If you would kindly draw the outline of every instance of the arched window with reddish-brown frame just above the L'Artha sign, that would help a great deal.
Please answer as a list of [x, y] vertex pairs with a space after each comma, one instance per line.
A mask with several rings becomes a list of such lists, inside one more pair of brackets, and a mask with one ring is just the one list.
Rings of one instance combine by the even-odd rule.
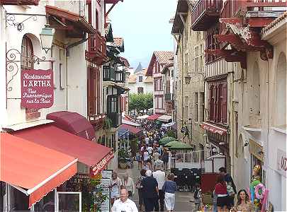
[[34, 63], [31, 62], [33, 56], [33, 45], [27, 35], [23, 36], [21, 45], [21, 69], [33, 69]]

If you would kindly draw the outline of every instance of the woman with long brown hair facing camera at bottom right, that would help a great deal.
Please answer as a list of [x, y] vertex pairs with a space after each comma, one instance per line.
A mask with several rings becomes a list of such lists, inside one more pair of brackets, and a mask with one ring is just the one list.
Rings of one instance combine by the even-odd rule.
[[249, 196], [244, 189], [241, 189], [237, 194], [237, 203], [231, 209], [231, 211], [254, 211], [254, 206], [252, 202], [249, 200]]

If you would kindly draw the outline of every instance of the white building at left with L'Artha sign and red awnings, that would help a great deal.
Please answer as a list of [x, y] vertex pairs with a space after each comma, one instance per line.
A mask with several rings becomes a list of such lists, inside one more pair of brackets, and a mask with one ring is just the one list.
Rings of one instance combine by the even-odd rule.
[[[45, 201], [50, 198], [54, 202], [57, 187], [63, 183], [66, 187], [65, 181], [75, 172], [96, 175], [113, 158], [111, 148], [96, 141], [103, 136], [103, 119], [106, 117], [102, 104], [102, 65], [106, 61], [105, 8], [117, 3], [103, 0], [1, 1], [0, 43], [4, 48], [0, 50], [0, 66], [5, 70], [0, 77], [1, 146], [10, 147], [13, 139], [21, 140], [21, 151], [38, 146], [35, 153], [22, 155], [17, 165], [21, 167], [21, 161], [26, 161], [23, 167], [33, 176], [42, 177], [38, 178], [40, 182], [50, 180], [48, 186], [40, 187], [42, 190], [38, 191], [39, 184], [30, 189], [25, 182], [13, 183], [6, 178], [8, 175], [1, 173], [1, 211], [44, 211]], [[51, 32], [51, 40], [41, 37], [47, 35], [47, 31]], [[50, 46], [44, 46], [45, 41], [50, 42]], [[36, 81], [40, 76], [46, 80]], [[26, 93], [23, 91], [25, 87], [30, 87]], [[27, 100], [33, 96], [35, 99]], [[38, 99], [41, 96], [43, 98]], [[38, 138], [33, 137], [37, 134]], [[40, 138], [43, 135], [45, 138]], [[43, 143], [37, 144], [40, 141]], [[9, 149], [15, 151], [17, 147]], [[50, 153], [42, 154], [45, 150]], [[3, 149], [1, 151], [6, 153]], [[55, 179], [50, 179], [50, 175], [43, 178], [41, 166], [34, 170], [33, 164], [28, 163], [29, 160], [33, 163], [46, 161], [48, 155], [53, 154], [78, 159], [73, 164], [62, 164], [64, 171], [57, 169], [57, 161], [43, 163], [44, 173], [52, 166], [55, 172], [51, 175], [55, 175]], [[16, 161], [17, 154], [13, 155]], [[42, 155], [46, 155], [46, 159]], [[61, 179], [57, 176], [59, 173], [62, 173]], [[27, 176], [16, 178], [25, 179]], [[31, 177], [29, 180], [34, 182], [35, 179]], [[38, 193], [34, 194], [34, 190]], [[43, 191], [45, 194], [42, 195]], [[45, 200], [42, 199], [47, 193]]]

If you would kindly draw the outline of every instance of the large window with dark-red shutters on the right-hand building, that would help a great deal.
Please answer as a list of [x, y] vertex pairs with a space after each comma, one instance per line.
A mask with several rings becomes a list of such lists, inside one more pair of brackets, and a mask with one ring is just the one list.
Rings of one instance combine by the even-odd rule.
[[227, 81], [210, 82], [209, 120], [218, 123], [227, 122]]

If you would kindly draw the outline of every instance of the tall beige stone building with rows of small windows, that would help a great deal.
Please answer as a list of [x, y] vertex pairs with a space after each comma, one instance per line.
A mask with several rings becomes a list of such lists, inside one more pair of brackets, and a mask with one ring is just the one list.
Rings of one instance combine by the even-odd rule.
[[[206, 117], [204, 100], [205, 34], [191, 29], [192, 8], [193, 4], [188, 1], [179, 1], [171, 33], [177, 42], [177, 134], [179, 140], [193, 145], [194, 151], [196, 151], [204, 150], [206, 146], [204, 130], [201, 128], [201, 123]], [[187, 133], [182, 129], [187, 129]]]

